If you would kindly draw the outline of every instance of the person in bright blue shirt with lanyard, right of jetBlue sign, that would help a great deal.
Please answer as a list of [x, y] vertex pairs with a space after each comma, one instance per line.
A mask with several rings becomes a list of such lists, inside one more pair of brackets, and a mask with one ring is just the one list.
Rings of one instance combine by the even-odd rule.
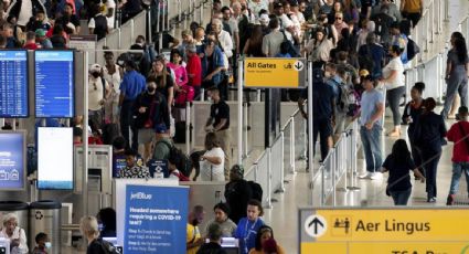
[[257, 200], [247, 202], [247, 216], [242, 218], [237, 223], [235, 237], [239, 241], [239, 254], [247, 254], [256, 245], [257, 231], [264, 221], [260, 216], [264, 214], [263, 205]]

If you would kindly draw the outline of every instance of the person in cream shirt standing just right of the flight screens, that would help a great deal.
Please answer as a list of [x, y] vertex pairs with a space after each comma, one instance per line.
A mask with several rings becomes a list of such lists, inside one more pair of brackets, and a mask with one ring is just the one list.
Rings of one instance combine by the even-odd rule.
[[88, 116], [98, 129], [103, 124], [103, 106], [109, 95], [110, 87], [102, 76], [100, 65], [93, 64], [88, 75]]

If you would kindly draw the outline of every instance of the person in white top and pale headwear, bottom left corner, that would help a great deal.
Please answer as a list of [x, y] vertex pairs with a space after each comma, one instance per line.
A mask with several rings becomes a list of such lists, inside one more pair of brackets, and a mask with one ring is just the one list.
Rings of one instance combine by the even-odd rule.
[[26, 254], [28, 243], [26, 233], [18, 226], [18, 216], [14, 213], [8, 213], [3, 216], [3, 229], [0, 237], [10, 240], [11, 254]]

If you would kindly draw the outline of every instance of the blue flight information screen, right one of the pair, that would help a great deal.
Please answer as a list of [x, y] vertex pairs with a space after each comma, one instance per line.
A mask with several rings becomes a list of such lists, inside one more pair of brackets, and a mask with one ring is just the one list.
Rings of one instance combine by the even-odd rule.
[[35, 116], [73, 117], [73, 51], [35, 51]]

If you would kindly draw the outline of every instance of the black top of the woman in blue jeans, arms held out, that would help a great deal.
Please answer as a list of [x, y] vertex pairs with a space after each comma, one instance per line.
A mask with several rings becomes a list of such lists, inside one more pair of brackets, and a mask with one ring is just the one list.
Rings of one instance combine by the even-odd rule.
[[411, 176], [408, 173], [408, 171], [415, 169], [412, 158], [408, 158], [405, 162], [398, 162], [393, 156], [388, 156], [384, 160], [383, 168], [390, 171], [390, 178], [387, 179], [390, 191], [405, 191], [412, 188]]

